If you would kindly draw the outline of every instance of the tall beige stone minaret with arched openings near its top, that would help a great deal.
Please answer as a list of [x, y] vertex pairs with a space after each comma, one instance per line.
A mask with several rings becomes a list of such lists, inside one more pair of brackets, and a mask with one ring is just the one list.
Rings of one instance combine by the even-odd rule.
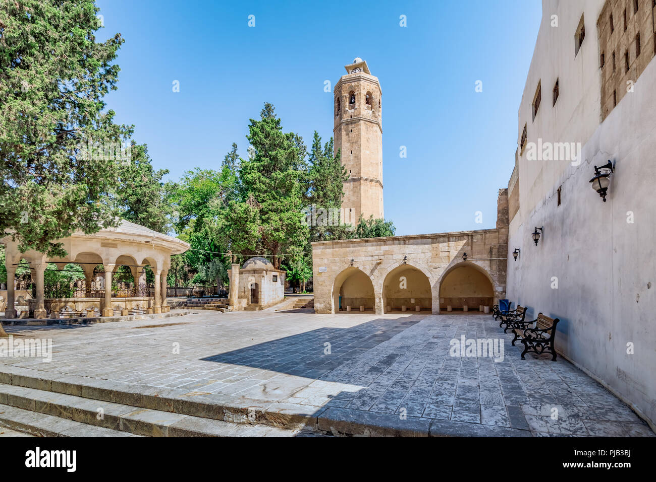
[[382, 211], [382, 103], [378, 77], [367, 62], [356, 58], [345, 65], [335, 85], [335, 153], [342, 151], [348, 180], [344, 183], [342, 209], [346, 223], [383, 217]]

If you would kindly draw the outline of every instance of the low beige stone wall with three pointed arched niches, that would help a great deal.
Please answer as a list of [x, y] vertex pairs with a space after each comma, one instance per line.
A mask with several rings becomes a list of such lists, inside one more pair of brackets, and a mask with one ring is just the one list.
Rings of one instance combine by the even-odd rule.
[[[440, 312], [440, 283], [445, 274], [459, 267], [472, 267], [483, 273], [493, 286], [493, 302], [505, 297], [506, 253], [508, 246], [508, 190], [499, 191], [497, 229], [479, 231], [447, 232], [440, 234], [418, 234], [358, 240], [324, 241], [312, 243], [314, 308], [318, 313], [338, 311], [340, 288], [348, 283], [356, 271], [369, 278], [373, 288], [373, 303], [376, 313], [386, 312], [388, 305], [403, 298], [398, 293], [386, 293], [384, 286], [400, 284], [401, 270], [413, 268], [423, 274], [430, 286], [430, 306], [434, 314]], [[467, 261], [462, 255], [467, 254]], [[365, 280], [361, 274], [359, 275]], [[406, 276], [406, 282], [413, 280]], [[369, 299], [369, 286], [359, 282], [361, 296]], [[409, 292], [413, 286], [408, 286]], [[428, 296], [417, 287], [415, 303], [426, 308]], [[484, 296], [484, 295], [483, 295]], [[388, 298], [388, 299], [387, 299]], [[419, 303], [419, 299], [426, 298]], [[393, 300], [397, 301], [393, 301]], [[388, 303], [392, 301], [392, 303]], [[404, 303], [407, 301], [404, 301]], [[359, 309], [361, 301], [354, 299], [353, 306]], [[365, 305], [367, 303], [365, 302]], [[366, 306], [365, 306], [366, 308]], [[478, 308], [478, 305], [476, 306]]]

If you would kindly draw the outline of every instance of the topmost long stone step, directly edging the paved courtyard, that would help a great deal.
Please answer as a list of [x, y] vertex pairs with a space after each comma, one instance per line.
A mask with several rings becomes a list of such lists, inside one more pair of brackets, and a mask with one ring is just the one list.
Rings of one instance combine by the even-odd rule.
[[[68, 404], [68, 406], [73, 405], [74, 408], [73, 412], [69, 411], [68, 413], [76, 413], [78, 414], [77, 417], [96, 417], [98, 415], [97, 409], [104, 407], [105, 420], [107, 420], [108, 414], [114, 415], [115, 417], [118, 416], [127, 420], [123, 422], [124, 426], [134, 426], [136, 424], [137, 428], [134, 430], [140, 434], [148, 433], [147, 430], [139, 432], [138, 421], [140, 420], [142, 420], [143, 424], [150, 424], [150, 426], [146, 425], [148, 430], [157, 429], [161, 431], [166, 428], [167, 434], [170, 435], [171, 433], [175, 434], [176, 430], [184, 430], [187, 434], [191, 434], [194, 431], [200, 432], [197, 429], [197, 424], [201, 422], [196, 419], [201, 418], [203, 424], [208, 424], [208, 421], [234, 424], [237, 426], [234, 430], [237, 430], [239, 435], [246, 435], [245, 432], [239, 430], [241, 428], [260, 427], [260, 430], [262, 430], [262, 427], [264, 427], [285, 430], [285, 432], [276, 432], [285, 436], [290, 436], [292, 435], [291, 432], [295, 432], [295, 436], [299, 437], [323, 435], [449, 437], [462, 436], [463, 434], [477, 437], [531, 436], [529, 430], [523, 429], [480, 426], [479, 424], [466, 422], [410, 416], [407, 417], [407, 420], [401, 420], [395, 414], [373, 413], [358, 409], [325, 407], [321, 405], [300, 405], [287, 401], [264, 401], [242, 396], [211, 394], [203, 392], [202, 388], [199, 388], [199, 390], [163, 388], [144, 384], [93, 379], [78, 375], [64, 375], [63, 373], [16, 367], [13, 365], [0, 365], [0, 383], [6, 385], [3, 387], [3, 390], [7, 395], [6, 400], [0, 396], [0, 403], [7, 402], [7, 405], [29, 404], [31, 403], [31, 399], [34, 402], [34, 410], [37, 410], [37, 399], [39, 397], [36, 397], [35, 394], [39, 394], [39, 392], [12, 392], [10, 398], [9, 388], [16, 387], [33, 388], [40, 392], [45, 392], [45, 394], [39, 394], [39, 396], [43, 397], [56, 397], [58, 394], [70, 395], [75, 397], [75, 403]], [[48, 398], [45, 401], [39, 399], [40, 408], [58, 407], [59, 405], [67, 406], [65, 402], [62, 402], [62, 399], [53, 398], [51, 400]], [[128, 405], [129, 407], [127, 409], [131, 409], [132, 411], [116, 415], [114, 409], [106, 408], [108, 406], [113, 407], [113, 405], [122, 406], [116, 409], [117, 412], [123, 411], [125, 405]], [[24, 406], [31, 408], [31, 405]], [[56, 408], [56, 410], [59, 409]], [[34, 414], [37, 412], [31, 413]], [[65, 419], [61, 411], [54, 413], [54, 417]], [[128, 417], [128, 415], [131, 416]], [[48, 414], [47, 416], [52, 417], [53, 415]], [[180, 422], [178, 418], [175, 418], [176, 416], [190, 416], [194, 418], [184, 418], [185, 421]], [[161, 420], [159, 420], [160, 418]], [[2, 418], [0, 418], [0, 424], [2, 423], [1, 420]], [[219, 425], [220, 428], [204, 428], [204, 432], [207, 433], [215, 430], [215, 433], [235, 433], [219, 432], [219, 430], [224, 430], [225, 428], [224, 425]], [[209, 427], [210, 425], [207, 426]], [[18, 430], [14, 427], [9, 426], [13, 430]], [[45, 425], [44, 427], [47, 428], [48, 426]], [[201, 426], [201, 428], [203, 427]], [[110, 429], [108, 428], [108, 430]], [[249, 432], [249, 434], [251, 433], [255, 434], [258, 432]], [[272, 432], [267, 432], [266, 430], [264, 433], [267, 436], [272, 434]]]

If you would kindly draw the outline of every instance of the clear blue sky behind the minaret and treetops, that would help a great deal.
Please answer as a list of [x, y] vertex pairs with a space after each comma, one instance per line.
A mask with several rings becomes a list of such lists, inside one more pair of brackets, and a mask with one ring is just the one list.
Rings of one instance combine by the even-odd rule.
[[334, 85], [361, 57], [382, 86], [384, 212], [396, 234], [495, 226], [541, 1], [97, 3], [98, 39], [126, 40], [106, 100], [167, 179], [217, 169], [233, 141], [246, 157], [249, 119], [264, 102], [286, 132], [309, 144], [317, 130], [326, 141], [333, 94], [324, 81]]

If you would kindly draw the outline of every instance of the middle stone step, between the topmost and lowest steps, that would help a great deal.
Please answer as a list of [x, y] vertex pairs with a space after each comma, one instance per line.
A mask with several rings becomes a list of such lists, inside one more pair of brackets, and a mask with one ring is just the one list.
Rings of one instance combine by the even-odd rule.
[[[291, 437], [298, 432], [266, 425], [234, 424], [7, 384], [0, 384], [0, 402], [10, 409], [28, 411], [32, 416], [51, 416], [86, 426], [88, 428], [85, 429], [64, 424], [67, 428], [75, 428], [80, 434], [87, 430], [89, 436], [93, 436], [98, 429], [100, 432], [96, 436], [109, 437], [130, 434], [146, 437]], [[9, 428], [17, 428], [21, 420], [27, 420], [24, 413], [16, 417], [11, 411], [8, 412], [9, 416], [0, 414], [0, 421], [9, 423]], [[38, 415], [33, 418], [39, 418]], [[16, 419], [13, 426], [12, 419]], [[45, 423], [40, 426], [52, 432], [48, 436], [60, 436], [54, 425], [57, 420], [43, 421]], [[108, 432], [102, 435], [102, 430]]]

